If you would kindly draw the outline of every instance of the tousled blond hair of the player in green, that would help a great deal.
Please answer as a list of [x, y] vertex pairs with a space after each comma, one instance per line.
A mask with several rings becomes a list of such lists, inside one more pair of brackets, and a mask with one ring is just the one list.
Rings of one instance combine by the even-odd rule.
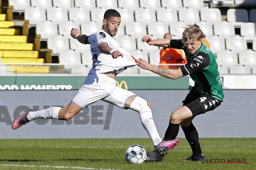
[[194, 25], [187, 25], [185, 27], [185, 30], [182, 33], [181, 41], [185, 47], [187, 44], [190, 44], [193, 41], [199, 41], [200, 38], [202, 38], [202, 36], [203, 36], [203, 33], [199, 27]]

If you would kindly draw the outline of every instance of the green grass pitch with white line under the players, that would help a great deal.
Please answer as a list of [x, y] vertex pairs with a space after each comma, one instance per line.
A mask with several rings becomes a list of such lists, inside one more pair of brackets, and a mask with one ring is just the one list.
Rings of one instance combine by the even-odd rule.
[[168, 151], [162, 162], [128, 164], [125, 151], [134, 144], [143, 146], [147, 152], [154, 149], [150, 139], [1, 139], [0, 170], [256, 169], [256, 138], [200, 139], [208, 160], [239, 162], [240, 159], [250, 164], [181, 162], [192, 154], [186, 139], [180, 139], [179, 145]]

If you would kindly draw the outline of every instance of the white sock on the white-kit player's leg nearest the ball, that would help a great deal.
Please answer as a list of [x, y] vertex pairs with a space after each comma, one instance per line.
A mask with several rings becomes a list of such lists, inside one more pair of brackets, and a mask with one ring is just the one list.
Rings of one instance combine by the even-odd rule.
[[140, 113], [140, 120], [143, 128], [147, 131], [147, 134], [150, 136], [151, 140], [155, 145], [158, 145], [161, 141], [162, 138], [160, 138], [154, 120], [152, 116], [152, 112], [143, 112]]

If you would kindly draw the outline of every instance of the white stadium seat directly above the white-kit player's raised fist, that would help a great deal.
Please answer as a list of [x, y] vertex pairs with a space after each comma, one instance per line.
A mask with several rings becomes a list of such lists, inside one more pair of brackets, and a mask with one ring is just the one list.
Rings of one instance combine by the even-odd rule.
[[69, 10], [69, 20], [79, 23], [90, 21], [90, 12], [86, 8], [73, 7]]

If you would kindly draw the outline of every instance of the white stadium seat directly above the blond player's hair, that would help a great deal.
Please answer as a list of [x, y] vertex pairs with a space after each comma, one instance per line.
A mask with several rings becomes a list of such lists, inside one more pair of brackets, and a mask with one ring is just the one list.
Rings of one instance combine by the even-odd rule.
[[193, 8], [182, 8], [179, 12], [179, 21], [182, 22], [198, 22], [200, 21], [199, 12]]

